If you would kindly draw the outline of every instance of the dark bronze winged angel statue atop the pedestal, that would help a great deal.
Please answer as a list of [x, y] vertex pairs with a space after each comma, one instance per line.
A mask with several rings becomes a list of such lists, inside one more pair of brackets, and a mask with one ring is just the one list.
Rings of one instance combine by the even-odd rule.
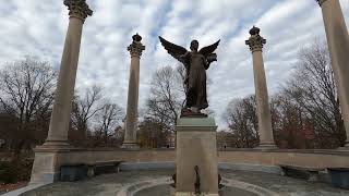
[[[201, 113], [202, 109], [208, 107], [206, 94], [206, 70], [210, 63], [217, 61], [217, 49], [219, 41], [206, 46], [198, 50], [198, 41], [192, 40], [190, 44], [191, 51], [174, 45], [159, 36], [161, 45], [174, 59], [183, 63], [186, 70], [184, 79], [186, 103], [181, 117], [207, 117]], [[198, 50], [198, 51], [197, 51]]]

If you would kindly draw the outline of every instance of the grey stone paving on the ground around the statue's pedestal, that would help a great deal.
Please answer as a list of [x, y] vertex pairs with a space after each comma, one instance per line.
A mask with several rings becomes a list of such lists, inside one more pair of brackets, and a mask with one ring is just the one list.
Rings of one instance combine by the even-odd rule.
[[[98, 175], [85, 181], [65, 183], [59, 182], [22, 194], [22, 196], [116, 196], [125, 185], [140, 181], [156, 180], [170, 176], [173, 171], [130, 171], [115, 174]], [[233, 179], [269, 189], [278, 195], [289, 196], [345, 196], [349, 191], [333, 188], [325, 183], [312, 183], [276, 174], [249, 171], [221, 171], [222, 177]], [[146, 188], [136, 196], [165, 196], [169, 193], [168, 185]], [[226, 187], [224, 196], [254, 196], [244, 189]]]

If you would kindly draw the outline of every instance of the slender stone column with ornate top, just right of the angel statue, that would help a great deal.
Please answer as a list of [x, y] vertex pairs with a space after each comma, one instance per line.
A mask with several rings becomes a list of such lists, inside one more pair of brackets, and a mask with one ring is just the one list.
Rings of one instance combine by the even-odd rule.
[[257, 27], [253, 26], [250, 34], [251, 37], [245, 41], [245, 44], [250, 46], [253, 56], [254, 86], [257, 105], [258, 133], [261, 139], [258, 148], [275, 148], [268, 90], [262, 56], [262, 48], [263, 45], [266, 44], [266, 40], [260, 36], [260, 28]]

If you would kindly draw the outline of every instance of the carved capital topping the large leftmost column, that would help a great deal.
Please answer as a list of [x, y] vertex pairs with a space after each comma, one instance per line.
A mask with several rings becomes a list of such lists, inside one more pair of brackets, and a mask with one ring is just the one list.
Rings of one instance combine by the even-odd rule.
[[87, 16], [93, 14], [86, 0], [64, 0], [64, 4], [68, 7], [69, 15], [71, 17], [77, 17], [85, 21]]

